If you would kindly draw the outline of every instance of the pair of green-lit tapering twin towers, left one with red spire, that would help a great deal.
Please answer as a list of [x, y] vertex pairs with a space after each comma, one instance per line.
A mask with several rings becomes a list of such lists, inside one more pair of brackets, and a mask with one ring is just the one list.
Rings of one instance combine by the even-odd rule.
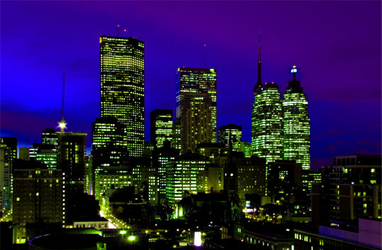
[[253, 94], [252, 153], [266, 158], [266, 163], [276, 160], [293, 160], [310, 170], [310, 119], [307, 99], [297, 68], [293, 66], [291, 80], [281, 99], [278, 85], [261, 81], [261, 43], [258, 43], [258, 79]]

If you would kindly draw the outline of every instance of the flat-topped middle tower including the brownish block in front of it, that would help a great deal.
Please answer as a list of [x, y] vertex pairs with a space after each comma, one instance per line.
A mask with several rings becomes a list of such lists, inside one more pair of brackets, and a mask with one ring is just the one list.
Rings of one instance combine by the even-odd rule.
[[180, 119], [182, 153], [195, 152], [198, 143], [216, 143], [216, 70], [180, 67], [176, 85], [176, 118]]

